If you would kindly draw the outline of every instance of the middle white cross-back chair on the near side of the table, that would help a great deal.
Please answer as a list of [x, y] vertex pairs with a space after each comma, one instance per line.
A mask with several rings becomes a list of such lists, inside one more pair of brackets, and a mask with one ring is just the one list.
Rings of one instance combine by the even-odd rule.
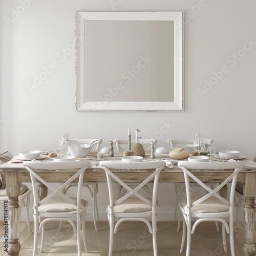
[[[112, 162], [112, 161], [101, 161], [100, 166], [105, 170], [106, 178], [109, 187], [109, 204], [107, 205], [108, 219], [110, 223], [110, 245], [109, 245], [109, 256], [112, 255], [113, 248], [113, 237], [114, 233], [117, 232], [118, 226], [123, 221], [143, 221], [146, 223], [150, 233], [153, 236], [153, 248], [154, 255], [157, 255], [157, 241], [156, 241], [156, 230], [157, 230], [157, 215], [159, 212], [159, 204], [157, 202], [157, 186], [160, 171], [165, 166], [164, 161], [147, 161], [147, 162]], [[115, 175], [113, 170], [129, 169], [131, 172], [135, 169], [148, 169], [154, 170], [154, 172], [146, 172], [147, 177], [143, 182], [139, 183], [135, 188], [131, 188], [125, 182]], [[134, 171], [136, 172], [136, 171]], [[134, 173], [136, 175], [136, 173]], [[139, 174], [137, 174], [139, 175]], [[146, 176], [146, 175], [145, 175]], [[144, 176], [143, 176], [144, 177]], [[118, 182], [123, 186], [127, 193], [121, 198], [115, 198], [113, 194], [113, 183]], [[153, 182], [153, 195], [151, 198], [145, 198], [141, 194], [141, 188], [148, 182]], [[114, 225], [114, 218], [117, 217], [118, 221]], [[152, 219], [152, 225], [146, 219], [150, 217]]]

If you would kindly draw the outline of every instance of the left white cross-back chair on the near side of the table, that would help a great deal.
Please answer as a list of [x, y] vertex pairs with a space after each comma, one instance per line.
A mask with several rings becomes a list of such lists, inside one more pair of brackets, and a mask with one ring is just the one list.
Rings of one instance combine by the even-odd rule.
[[[34, 215], [34, 247], [33, 247], [33, 256], [36, 255], [37, 249], [37, 238], [38, 232], [41, 233], [41, 247], [40, 252], [44, 246], [45, 238], [45, 223], [48, 221], [68, 221], [77, 235], [77, 250], [78, 255], [81, 255], [81, 246], [80, 246], [80, 229], [82, 225], [82, 237], [84, 248], [87, 250], [86, 246], [86, 236], [85, 236], [85, 218], [88, 202], [81, 199], [81, 188], [84, 170], [86, 170], [90, 163], [88, 161], [74, 161], [74, 162], [34, 162], [34, 161], [25, 161], [25, 168], [29, 171], [33, 195], [34, 195], [34, 206], [33, 206], [33, 215]], [[74, 170], [74, 175], [72, 175], [65, 183], [60, 185], [58, 188], [55, 188], [51, 183], [46, 182], [42, 179], [35, 170], [49, 170], [49, 175], [51, 175], [51, 170]], [[69, 185], [75, 179], [78, 180], [77, 187], [77, 197], [70, 198], [67, 195], [63, 194], [63, 189]], [[44, 199], [39, 200], [38, 197], [38, 187], [37, 181], [43, 183], [47, 186], [48, 191], [51, 193]], [[76, 221], [76, 226], [74, 221]], [[40, 225], [39, 225], [40, 223]]]

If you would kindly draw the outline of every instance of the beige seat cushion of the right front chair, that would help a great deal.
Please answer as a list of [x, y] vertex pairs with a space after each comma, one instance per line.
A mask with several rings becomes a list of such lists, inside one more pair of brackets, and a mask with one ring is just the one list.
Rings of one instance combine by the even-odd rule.
[[[199, 198], [191, 198], [191, 203], [197, 201]], [[187, 200], [183, 199], [181, 201], [181, 204], [183, 207], [186, 206]], [[191, 208], [191, 212], [201, 212], [201, 213], [206, 213], [206, 212], [223, 212], [223, 211], [228, 211], [229, 207], [224, 204], [221, 200], [218, 198], [208, 198], [202, 203], [193, 206]]]

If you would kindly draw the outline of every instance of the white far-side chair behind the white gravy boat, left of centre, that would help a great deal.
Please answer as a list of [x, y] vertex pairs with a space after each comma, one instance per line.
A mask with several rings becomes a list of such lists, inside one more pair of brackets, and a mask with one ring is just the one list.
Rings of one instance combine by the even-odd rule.
[[[71, 139], [77, 141], [79, 144], [90, 144], [96, 141], [96, 139]], [[99, 151], [100, 144], [102, 143], [102, 139], [96, 141], [93, 143], [93, 145], [96, 145], [95, 151]], [[70, 184], [65, 188], [65, 194], [68, 192], [68, 190], [72, 187], [77, 186], [77, 184]], [[89, 193], [92, 197], [92, 210], [93, 210], [93, 222], [94, 222], [94, 228], [95, 231], [97, 231], [97, 221], [99, 221], [99, 211], [98, 211], [98, 204], [97, 204], [97, 193], [99, 189], [99, 183], [98, 182], [83, 182], [83, 187], [87, 188], [89, 190]], [[61, 225], [61, 224], [60, 224]]]

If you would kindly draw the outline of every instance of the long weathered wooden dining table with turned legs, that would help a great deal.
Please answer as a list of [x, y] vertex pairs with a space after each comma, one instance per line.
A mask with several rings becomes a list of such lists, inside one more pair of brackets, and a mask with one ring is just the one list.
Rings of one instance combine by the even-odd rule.
[[[163, 160], [167, 157], [156, 157], [154, 160]], [[150, 158], [146, 158], [150, 160]], [[106, 182], [105, 171], [99, 166], [99, 161], [96, 157], [86, 157], [77, 160], [88, 160], [91, 165], [84, 174], [84, 182]], [[120, 161], [120, 157], [107, 157], [105, 160]], [[44, 160], [42, 160], [44, 161]], [[51, 161], [47, 159], [47, 161]], [[31, 182], [30, 174], [23, 166], [22, 161], [9, 161], [0, 167], [1, 173], [6, 175], [6, 191], [8, 195], [8, 255], [18, 255], [20, 244], [18, 241], [18, 216], [19, 205], [18, 196], [20, 184]], [[146, 173], [152, 170], [121, 170], [116, 171], [116, 175], [126, 182], [141, 182], [144, 180]], [[203, 182], [222, 182], [225, 180], [232, 170], [194, 170], [194, 175]], [[72, 174], [69, 170], [40, 170], [37, 174], [47, 182], [65, 182]], [[160, 173], [159, 182], [176, 183], [184, 182], [182, 170], [174, 165], [173, 168], [166, 166]], [[244, 167], [238, 175], [238, 183], [244, 185], [244, 222], [245, 222], [245, 243], [243, 251], [245, 255], [256, 255], [256, 245], [254, 240], [254, 221], [255, 221], [255, 205], [254, 197], [256, 196], [256, 167]], [[44, 185], [41, 186], [42, 194], [40, 197], [45, 197], [47, 190]], [[227, 187], [222, 193], [227, 193]]]

